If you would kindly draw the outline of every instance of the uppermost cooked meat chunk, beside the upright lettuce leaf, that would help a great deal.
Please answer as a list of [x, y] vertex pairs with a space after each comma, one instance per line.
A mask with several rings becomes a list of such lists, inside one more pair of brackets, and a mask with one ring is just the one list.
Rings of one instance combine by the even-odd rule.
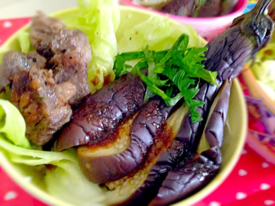
[[90, 92], [87, 76], [92, 52], [87, 35], [38, 12], [32, 19], [30, 37], [37, 52], [48, 60], [56, 84], [69, 81], [76, 86], [76, 95], [69, 103], [78, 104]]

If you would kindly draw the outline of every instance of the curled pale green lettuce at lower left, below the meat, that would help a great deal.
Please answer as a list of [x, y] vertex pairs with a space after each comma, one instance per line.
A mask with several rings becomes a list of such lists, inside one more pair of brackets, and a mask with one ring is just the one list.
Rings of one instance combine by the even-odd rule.
[[84, 177], [75, 149], [53, 152], [32, 147], [25, 137], [23, 117], [7, 100], [0, 99], [0, 117], [0, 149], [5, 151], [11, 162], [31, 166], [55, 165], [56, 168], [47, 170], [45, 176], [50, 195], [74, 205], [103, 205], [103, 190]]

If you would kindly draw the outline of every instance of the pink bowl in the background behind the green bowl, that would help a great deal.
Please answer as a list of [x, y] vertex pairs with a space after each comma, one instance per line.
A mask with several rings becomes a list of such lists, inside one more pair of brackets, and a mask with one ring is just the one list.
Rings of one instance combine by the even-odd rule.
[[243, 14], [245, 7], [247, 6], [248, 0], [239, 0], [235, 9], [232, 13], [220, 17], [212, 18], [192, 18], [192, 17], [180, 17], [176, 15], [168, 15], [159, 11], [155, 11], [150, 8], [143, 7], [141, 5], [133, 3], [131, 0], [120, 0], [123, 5], [130, 5], [133, 7], [138, 7], [141, 9], [146, 9], [149, 11], [154, 11], [161, 15], [168, 15], [171, 19], [178, 21], [185, 25], [193, 26], [197, 33], [204, 37], [207, 41], [215, 37], [216, 35], [222, 33], [229, 25], [231, 25], [233, 19]]

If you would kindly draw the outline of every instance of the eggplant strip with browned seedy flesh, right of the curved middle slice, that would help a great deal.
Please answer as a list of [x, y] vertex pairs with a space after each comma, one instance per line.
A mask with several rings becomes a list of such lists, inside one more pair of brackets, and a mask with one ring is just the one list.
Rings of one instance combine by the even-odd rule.
[[140, 169], [120, 180], [105, 184], [111, 190], [108, 194], [111, 204], [146, 205], [154, 193], [156, 195], [162, 172], [171, 170], [176, 158], [184, 153], [184, 145], [175, 141], [175, 138], [187, 110], [182, 106], [166, 120], [162, 131], [154, 138], [146, 162]]

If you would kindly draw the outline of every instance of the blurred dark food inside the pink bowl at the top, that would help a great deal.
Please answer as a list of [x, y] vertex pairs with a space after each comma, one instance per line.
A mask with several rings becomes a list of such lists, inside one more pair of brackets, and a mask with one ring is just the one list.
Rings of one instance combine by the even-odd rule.
[[135, 4], [184, 17], [217, 17], [234, 11], [237, 0], [131, 0]]

